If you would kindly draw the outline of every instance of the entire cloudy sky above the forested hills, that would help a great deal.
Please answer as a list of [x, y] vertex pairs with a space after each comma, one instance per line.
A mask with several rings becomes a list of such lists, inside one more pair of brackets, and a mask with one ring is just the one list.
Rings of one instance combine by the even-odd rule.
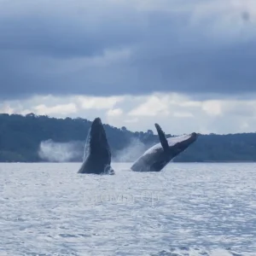
[[[0, 0], [0, 113], [256, 131], [255, 0]], [[154, 133], [156, 133], [154, 131]]]

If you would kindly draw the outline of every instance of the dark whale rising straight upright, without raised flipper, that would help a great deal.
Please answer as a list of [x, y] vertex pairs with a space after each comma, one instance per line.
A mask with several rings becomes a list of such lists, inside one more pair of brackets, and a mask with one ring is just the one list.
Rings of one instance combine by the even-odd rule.
[[114, 174], [111, 167], [111, 151], [100, 118], [94, 119], [90, 126], [79, 173]]

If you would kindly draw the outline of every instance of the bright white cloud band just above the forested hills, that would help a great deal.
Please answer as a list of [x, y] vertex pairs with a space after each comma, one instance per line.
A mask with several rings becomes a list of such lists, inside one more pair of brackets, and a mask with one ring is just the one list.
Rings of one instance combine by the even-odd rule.
[[[125, 126], [131, 131], [150, 129], [155, 134], [154, 123], [159, 123], [166, 133], [173, 135], [193, 131], [220, 134], [254, 132], [256, 127], [255, 99], [195, 100], [193, 97], [176, 93], [85, 98], [90, 106], [85, 108], [85, 111], [81, 96], [35, 96], [1, 102], [0, 113], [35, 113], [57, 118], [70, 116], [90, 120], [99, 116], [105, 124], [119, 128]], [[100, 108], [97, 102], [101, 102]]]

